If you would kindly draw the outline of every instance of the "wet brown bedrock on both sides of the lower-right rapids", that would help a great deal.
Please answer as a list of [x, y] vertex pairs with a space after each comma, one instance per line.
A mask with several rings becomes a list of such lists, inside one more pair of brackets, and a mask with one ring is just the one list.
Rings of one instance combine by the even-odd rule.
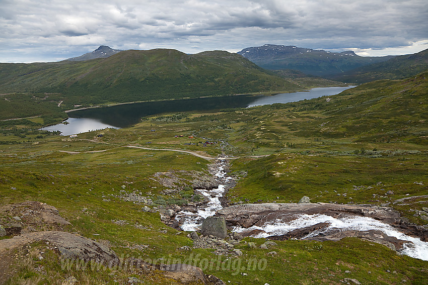
[[[221, 209], [217, 212], [219, 217], [224, 217], [227, 226], [249, 229], [253, 226], [261, 227], [277, 221], [290, 223], [296, 219], [296, 215], [322, 214], [336, 219], [348, 217], [368, 217], [381, 221], [395, 228], [395, 230], [408, 236], [419, 238], [421, 241], [428, 240], [428, 229], [408, 222], [406, 218], [392, 208], [371, 205], [337, 205], [337, 204], [242, 204]], [[329, 222], [317, 223], [315, 225], [291, 230], [283, 235], [272, 235], [267, 237], [271, 240], [312, 239], [312, 240], [339, 240], [344, 237], [360, 237], [381, 244], [385, 244], [393, 250], [403, 248], [403, 243], [408, 242], [387, 236], [379, 230], [341, 230], [329, 228]], [[265, 233], [260, 229], [249, 229], [242, 231], [244, 236]]]

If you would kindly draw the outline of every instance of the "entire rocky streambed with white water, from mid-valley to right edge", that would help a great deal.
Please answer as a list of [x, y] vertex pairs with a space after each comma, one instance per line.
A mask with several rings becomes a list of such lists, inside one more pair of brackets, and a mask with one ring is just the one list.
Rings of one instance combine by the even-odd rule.
[[207, 203], [182, 207], [174, 219], [184, 231], [200, 231], [211, 216], [222, 217], [228, 230], [269, 240], [333, 240], [359, 237], [401, 254], [428, 260], [428, 227], [410, 223], [389, 207], [327, 203], [264, 203], [227, 207], [224, 194], [236, 179], [227, 174], [227, 160], [210, 165], [211, 186], [194, 187]]

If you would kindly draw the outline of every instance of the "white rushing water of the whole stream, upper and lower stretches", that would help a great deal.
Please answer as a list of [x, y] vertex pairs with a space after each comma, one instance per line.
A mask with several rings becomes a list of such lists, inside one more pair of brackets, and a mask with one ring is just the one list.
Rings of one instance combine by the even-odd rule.
[[[226, 189], [230, 186], [232, 177], [227, 175], [225, 169], [227, 169], [226, 160], [218, 160], [216, 162], [216, 169], [211, 172], [216, 177], [219, 186], [212, 190], [197, 189], [196, 192], [207, 197], [209, 202], [206, 205], [200, 206], [196, 209], [196, 212], [181, 211], [177, 213], [176, 220], [181, 225], [180, 228], [184, 231], [197, 231], [200, 229], [203, 219], [216, 214], [216, 211], [223, 208], [221, 198], [223, 197]], [[390, 237], [395, 237], [399, 240], [408, 241], [404, 243], [403, 249], [400, 253], [419, 258], [422, 260], [428, 260], [428, 243], [423, 242], [418, 238], [407, 236], [394, 227], [385, 224], [381, 221], [375, 220], [368, 217], [360, 216], [348, 216], [342, 218], [334, 218], [327, 215], [315, 214], [298, 214], [295, 219], [289, 222], [284, 222], [277, 219], [273, 222], [266, 222], [262, 226], [252, 226], [250, 228], [234, 227], [232, 230], [235, 232], [243, 233], [251, 230], [261, 230], [258, 234], [251, 235], [255, 238], [265, 238], [272, 235], [283, 235], [290, 231], [313, 226], [318, 223], [328, 223], [329, 226], [320, 230], [316, 230], [307, 236], [303, 237], [310, 238], [319, 235], [327, 235], [329, 232], [346, 230], [357, 230], [357, 231], [368, 231], [368, 230], [379, 230]]]

